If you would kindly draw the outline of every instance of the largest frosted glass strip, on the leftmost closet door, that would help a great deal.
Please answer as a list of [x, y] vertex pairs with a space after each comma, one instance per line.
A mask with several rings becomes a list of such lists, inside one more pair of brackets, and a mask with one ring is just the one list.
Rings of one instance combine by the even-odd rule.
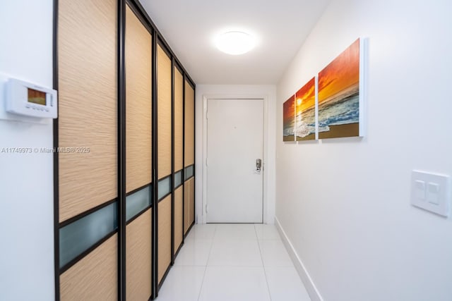
[[117, 202], [59, 229], [59, 267], [88, 250], [117, 229]]

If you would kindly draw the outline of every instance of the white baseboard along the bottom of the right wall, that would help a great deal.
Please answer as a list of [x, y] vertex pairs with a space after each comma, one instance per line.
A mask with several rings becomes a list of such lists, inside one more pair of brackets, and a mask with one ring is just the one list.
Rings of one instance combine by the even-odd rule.
[[289, 253], [290, 258], [292, 259], [292, 262], [294, 263], [295, 269], [297, 269], [300, 278], [302, 278], [304, 287], [306, 288], [309, 297], [311, 297], [311, 301], [323, 301], [323, 298], [320, 295], [319, 290], [317, 290], [314, 281], [312, 281], [311, 276], [309, 276], [307, 269], [304, 267], [302, 259], [299, 258], [297, 251], [295, 251], [292, 242], [290, 242], [290, 239], [287, 237], [283, 229], [283, 226], [281, 226], [281, 223], [278, 220], [278, 217], [276, 216], [275, 216], [275, 226], [276, 228], [278, 228], [278, 231], [280, 232], [281, 238], [283, 239], [287, 252]]

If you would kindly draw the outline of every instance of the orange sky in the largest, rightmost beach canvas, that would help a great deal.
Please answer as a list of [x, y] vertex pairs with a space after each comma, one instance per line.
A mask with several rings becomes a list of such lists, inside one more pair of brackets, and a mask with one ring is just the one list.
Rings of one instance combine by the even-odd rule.
[[359, 83], [359, 39], [319, 72], [319, 104]]

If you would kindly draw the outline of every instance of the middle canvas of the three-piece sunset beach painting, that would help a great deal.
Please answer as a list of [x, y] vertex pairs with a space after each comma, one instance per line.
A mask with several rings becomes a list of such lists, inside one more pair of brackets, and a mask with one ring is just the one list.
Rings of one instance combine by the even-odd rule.
[[295, 137], [297, 141], [316, 139], [316, 78], [295, 94]]

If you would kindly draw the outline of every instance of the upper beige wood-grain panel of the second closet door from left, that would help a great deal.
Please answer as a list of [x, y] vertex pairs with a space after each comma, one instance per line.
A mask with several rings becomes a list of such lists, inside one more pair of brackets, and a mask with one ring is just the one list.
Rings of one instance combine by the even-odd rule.
[[126, 192], [152, 181], [152, 36], [126, 8]]

